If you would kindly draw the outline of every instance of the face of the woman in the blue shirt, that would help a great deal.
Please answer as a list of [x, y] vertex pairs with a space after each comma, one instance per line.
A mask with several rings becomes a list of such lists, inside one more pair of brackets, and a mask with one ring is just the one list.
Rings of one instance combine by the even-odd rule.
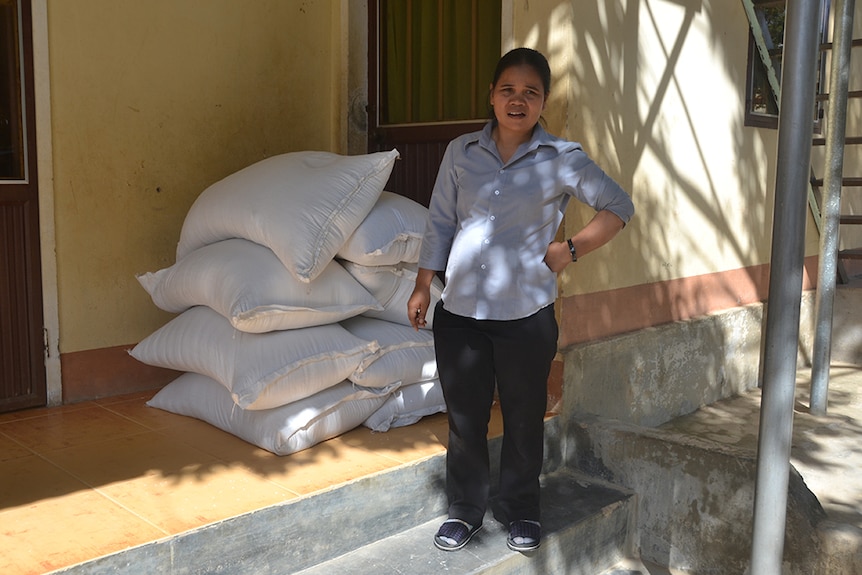
[[545, 109], [545, 89], [539, 74], [527, 65], [503, 70], [491, 85], [491, 106], [501, 128], [532, 131]]

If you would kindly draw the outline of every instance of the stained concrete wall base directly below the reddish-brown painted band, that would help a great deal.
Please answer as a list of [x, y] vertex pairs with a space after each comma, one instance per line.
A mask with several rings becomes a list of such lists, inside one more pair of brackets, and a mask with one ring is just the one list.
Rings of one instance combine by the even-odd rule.
[[[802, 297], [797, 361], [811, 357], [814, 293]], [[763, 304], [573, 346], [564, 352], [566, 417], [656, 427], [760, 381]]]

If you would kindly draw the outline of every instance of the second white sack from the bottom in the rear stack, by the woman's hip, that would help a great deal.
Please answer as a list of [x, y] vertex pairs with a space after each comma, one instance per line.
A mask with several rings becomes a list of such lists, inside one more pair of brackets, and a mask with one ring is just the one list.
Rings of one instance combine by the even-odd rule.
[[350, 380], [357, 385], [380, 388], [393, 383], [408, 385], [437, 377], [434, 334], [428, 330], [370, 317], [354, 317], [341, 325], [361, 339], [376, 341], [380, 349], [367, 356]]

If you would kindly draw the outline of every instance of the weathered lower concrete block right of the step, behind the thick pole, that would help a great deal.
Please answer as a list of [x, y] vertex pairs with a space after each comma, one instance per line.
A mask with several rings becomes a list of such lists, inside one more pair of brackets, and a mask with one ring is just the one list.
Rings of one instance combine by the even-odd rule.
[[[586, 418], [569, 426], [571, 466], [638, 494], [640, 556], [693, 573], [739, 575], [751, 556], [753, 451]], [[785, 575], [818, 570], [817, 526], [826, 514], [791, 470]]]

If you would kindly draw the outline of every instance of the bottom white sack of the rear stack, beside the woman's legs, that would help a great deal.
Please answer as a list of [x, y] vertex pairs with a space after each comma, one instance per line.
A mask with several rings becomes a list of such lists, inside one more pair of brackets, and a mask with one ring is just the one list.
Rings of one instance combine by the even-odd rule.
[[443, 388], [435, 379], [398, 388], [362, 425], [374, 431], [413, 425], [426, 415], [446, 412]]

